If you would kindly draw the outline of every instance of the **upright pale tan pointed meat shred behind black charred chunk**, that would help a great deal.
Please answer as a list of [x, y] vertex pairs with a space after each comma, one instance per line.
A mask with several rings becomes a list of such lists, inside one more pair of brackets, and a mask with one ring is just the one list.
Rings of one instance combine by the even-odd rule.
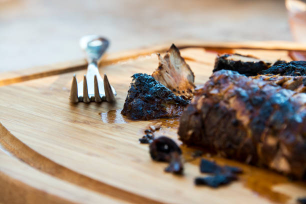
[[194, 90], [194, 74], [184, 58], [180, 56], [177, 47], [172, 44], [164, 57], [160, 56], [157, 69], [152, 76], [176, 95], [183, 95], [190, 99]]

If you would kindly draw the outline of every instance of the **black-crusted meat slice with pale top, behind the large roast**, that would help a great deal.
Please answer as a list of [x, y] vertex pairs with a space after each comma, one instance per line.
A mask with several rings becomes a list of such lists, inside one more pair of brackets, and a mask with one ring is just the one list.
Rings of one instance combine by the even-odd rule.
[[[285, 61], [277, 60], [274, 64], [283, 63]], [[223, 54], [215, 58], [213, 72], [227, 69], [237, 71], [246, 76], [257, 75], [262, 70], [271, 66], [271, 62], [267, 60], [258, 59], [251, 55], [242, 54]]]

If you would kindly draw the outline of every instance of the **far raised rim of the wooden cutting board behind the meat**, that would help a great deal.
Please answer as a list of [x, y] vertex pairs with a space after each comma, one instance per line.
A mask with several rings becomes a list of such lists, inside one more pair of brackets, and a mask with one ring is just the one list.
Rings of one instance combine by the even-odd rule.
[[[145, 56], [154, 52], [163, 52], [168, 49], [169, 44], [174, 43], [178, 48], [186, 47], [205, 47], [210, 49], [228, 47], [235, 49], [261, 49], [261, 50], [286, 50], [286, 51], [304, 51], [306, 43], [292, 42], [292, 41], [204, 41], [204, 40], [174, 40], [167, 43], [157, 44], [149, 48], [133, 49], [105, 54], [100, 60], [100, 66], [109, 65], [118, 61], [133, 59], [138, 56]], [[51, 65], [36, 66], [27, 69], [6, 71], [0, 74], [0, 86], [10, 83], [16, 83], [35, 78], [66, 73], [69, 71], [76, 71], [85, 69], [87, 62], [85, 59], [78, 59], [73, 61], [65, 61]]]

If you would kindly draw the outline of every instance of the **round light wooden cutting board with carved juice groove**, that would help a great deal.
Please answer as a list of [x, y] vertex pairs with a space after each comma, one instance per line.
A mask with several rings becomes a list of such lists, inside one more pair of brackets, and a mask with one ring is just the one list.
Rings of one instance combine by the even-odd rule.
[[[177, 45], [196, 84], [211, 75], [218, 52], [291, 60], [288, 50], [302, 50], [294, 43], [193, 41]], [[119, 113], [130, 76], [152, 73], [158, 64], [155, 52], [169, 46], [103, 58], [100, 73], [107, 73], [118, 93], [114, 104], [69, 103], [72, 74], [81, 80], [86, 72], [83, 59], [1, 74], [0, 202], [295, 203], [297, 197], [306, 196], [304, 182], [208, 154], [202, 157], [240, 166], [244, 173], [238, 181], [217, 189], [195, 186], [193, 179], [205, 174], [199, 172], [200, 158], [192, 157], [196, 149], [177, 139], [178, 118], [129, 121]], [[164, 172], [167, 164], [152, 161], [148, 145], [138, 142], [145, 127], [156, 121], [162, 122], [157, 135], [170, 136], [181, 145], [183, 176]]]

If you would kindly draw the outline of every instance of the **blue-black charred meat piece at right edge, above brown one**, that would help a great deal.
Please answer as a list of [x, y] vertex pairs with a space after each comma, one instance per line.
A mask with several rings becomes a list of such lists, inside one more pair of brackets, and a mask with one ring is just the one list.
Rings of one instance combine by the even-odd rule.
[[263, 70], [262, 74], [272, 73], [286, 76], [304, 76], [306, 75], [306, 61], [290, 61], [273, 65], [270, 68]]

